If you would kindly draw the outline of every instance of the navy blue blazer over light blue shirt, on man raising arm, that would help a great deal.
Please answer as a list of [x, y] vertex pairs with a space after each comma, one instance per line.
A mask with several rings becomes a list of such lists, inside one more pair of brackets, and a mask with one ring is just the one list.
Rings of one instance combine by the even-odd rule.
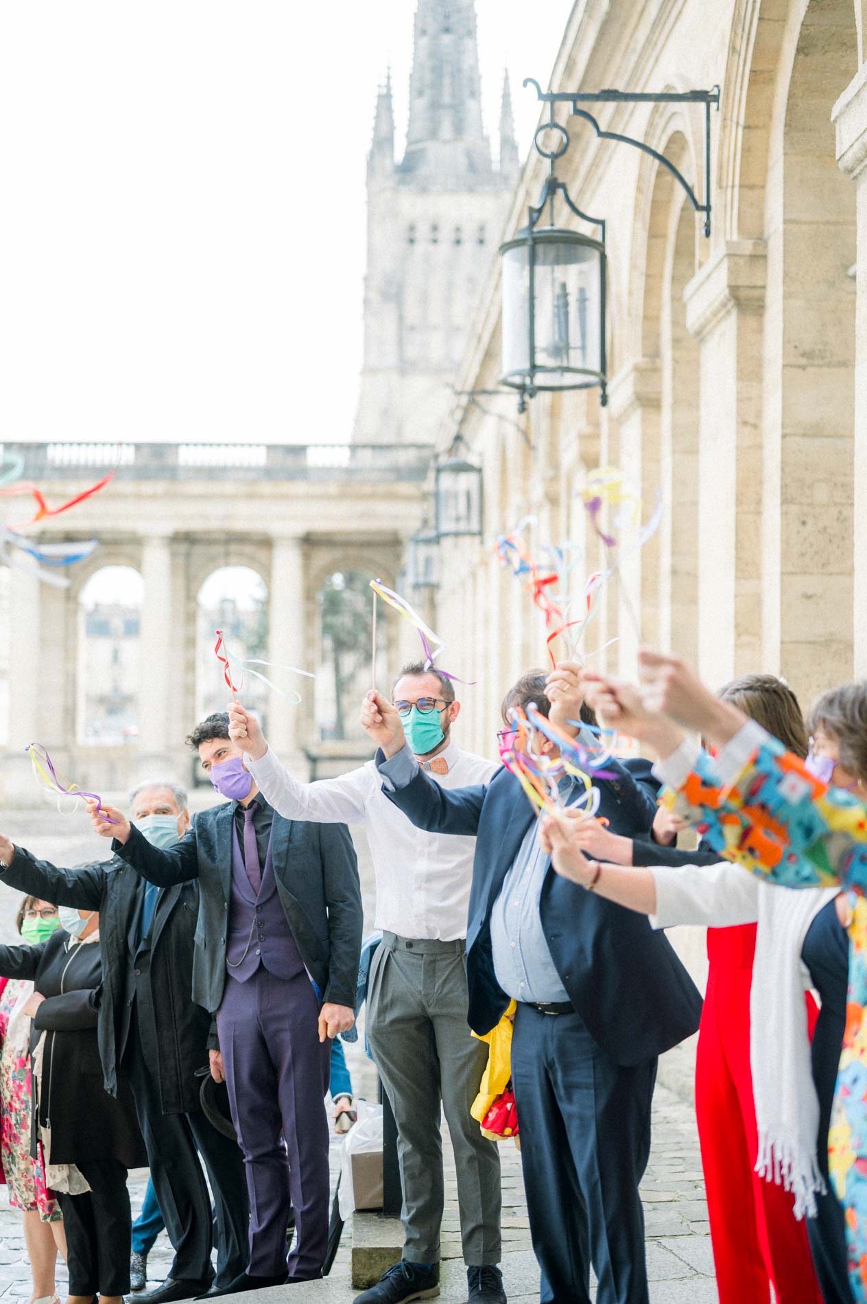
[[[377, 754], [377, 762], [383, 754]], [[630, 772], [606, 764], [598, 814], [611, 831], [647, 837], [656, 806]], [[497, 982], [490, 914], [535, 815], [520, 784], [498, 769], [489, 784], [448, 790], [420, 771], [386, 795], [432, 833], [476, 836], [467, 927], [469, 1026], [488, 1033], [508, 996]], [[677, 1046], [699, 1026], [701, 996], [664, 932], [643, 914], [605, 901], [549, 868], [540, 911], [554, 966], [593, 1039], [618, 1064], [640, 1064]]]

